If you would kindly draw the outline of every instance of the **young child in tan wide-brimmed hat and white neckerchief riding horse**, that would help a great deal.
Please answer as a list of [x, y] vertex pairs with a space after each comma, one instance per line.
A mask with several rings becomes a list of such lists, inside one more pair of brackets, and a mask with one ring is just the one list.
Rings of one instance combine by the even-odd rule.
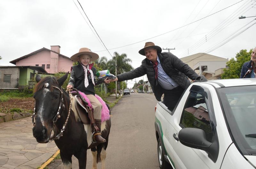
[[[78, 65], [72, 66], [67, 88], [76, 88], [88, 97], [92, 104], [93, 116], [95, 119], [95, 123], [92, 123], [94, 131], [100, 132], [102, 105], [94, 96], [94, 86], [102, 82], [110, 83], [111, 80], [106, 78], [105, 80], [96, 81], [96, 68], [93, 67], [93, 64], [89, 63], [97, 60], [98, 58], [98, 54], [91, 52], [90, 49], [86, 47], [81, 48], [78, 53], [71, 56], [70, 59], [78, 61]], [[98, 143], [106, 142], [106, 140], [97, 133], [94, 135], [94, 140]]]

